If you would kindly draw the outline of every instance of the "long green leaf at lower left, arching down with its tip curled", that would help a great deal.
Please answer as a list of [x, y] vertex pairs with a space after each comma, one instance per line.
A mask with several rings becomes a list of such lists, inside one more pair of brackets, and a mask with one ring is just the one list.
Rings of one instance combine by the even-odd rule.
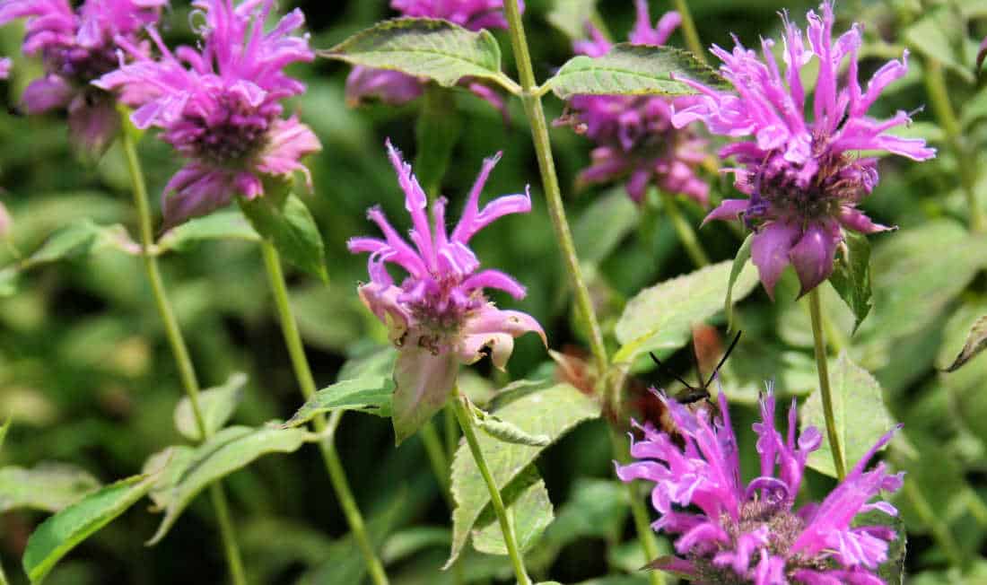
[[161, 542], [191, 500], [210, 483], [250, 465], [268, 453], [293, 453], [315, 437], [303, 429], [231, 426], [195, 449], [167, 495], [165, 517], [148, 545]]

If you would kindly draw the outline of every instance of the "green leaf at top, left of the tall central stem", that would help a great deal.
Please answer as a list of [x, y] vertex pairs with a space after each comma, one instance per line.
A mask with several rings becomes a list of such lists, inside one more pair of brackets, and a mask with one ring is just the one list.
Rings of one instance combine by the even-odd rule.
[[506, 79], [500, 72], [500, 47], [493, 35], [433, 19], [384, 21], [318, 54], [352, 65], [427, 77], [444, 87], [464, 77], [501, 84]]

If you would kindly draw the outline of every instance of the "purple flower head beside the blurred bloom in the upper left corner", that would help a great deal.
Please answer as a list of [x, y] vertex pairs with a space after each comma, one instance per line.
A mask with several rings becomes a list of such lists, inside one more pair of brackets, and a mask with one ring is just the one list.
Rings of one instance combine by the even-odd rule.
[[269, 32], [264, 23], [273, 0], [195, 0], [204, 22], [198, 48], [174, 53], [150, 30], [158, 60], [137, 57], [96, 85], [118, 90], [136, 110], [138, 128], [162, 128], [161, 138], [188, 163], [165, 187], [166, 226], [204, 215], [234, 195], [264, 194], [265, 179], [290, 178], [319, 139], [297, 117], [283, 117], [281, 101], [305, 89], [283, 68], [314, 58], [308, 37], [293, 36], [305, 17], [298, 9]]

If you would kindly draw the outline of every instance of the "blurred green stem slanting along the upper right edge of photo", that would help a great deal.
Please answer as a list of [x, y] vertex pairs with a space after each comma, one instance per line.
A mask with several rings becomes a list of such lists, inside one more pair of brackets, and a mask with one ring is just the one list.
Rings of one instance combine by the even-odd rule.
[[949, 147], [956, 157], [959, 183], [970, 214], [970, 230], [978, 234], [983, 233], [987, 231], [987, 220], [984, 219], [984, 211], [977, 202], [976, 156], [967, 148], [962, 127], [956, 118], [955, 110], [952, 109], [952, 103], [949, 102], [949, 89], [946, 85], [946, 75], [943, 73], [943, 64], [936, 59], [926, 59], [925, 84], [932, 109], [936, 113], [939, 124], [943, 126]]

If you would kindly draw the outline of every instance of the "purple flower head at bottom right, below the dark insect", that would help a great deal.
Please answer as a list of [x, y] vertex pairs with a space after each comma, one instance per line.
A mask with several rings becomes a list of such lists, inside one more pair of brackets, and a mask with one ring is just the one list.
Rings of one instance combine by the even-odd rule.
[[884, 501], [868, 503], [881, 491], [901, 486], [903, 474], [889, 474], [883, 463], [865, 471], [878, 449], [897, 427], [885, 434], [846, 478], [820, 503], [795, 507], [809, 453], [822, 435], [808, 427], [796, 436], [793, 401], [788, 430], [775, 428], [775, 397], [769, 385], [761, 397], [757, 433], [760, 475], [744, 485], [736, 437], [720, 394], [721, 419], [708, 410], [694, 413], [662, 397], [678, 427], [676, 437], [645, 426], [645, 439], [633, 442], [638, 461], [618, 466], [624, 481], [654, 483], [651, 503], [661, 515], [652, 528], [680, 535], [676, 557], [653, 566], [691, 575], [698, 583], [755, 585], [879, 585], [874, 569], [887, 558], [895, 538], [886, 526], [852, 526], [863, 512], [896, 515]]

